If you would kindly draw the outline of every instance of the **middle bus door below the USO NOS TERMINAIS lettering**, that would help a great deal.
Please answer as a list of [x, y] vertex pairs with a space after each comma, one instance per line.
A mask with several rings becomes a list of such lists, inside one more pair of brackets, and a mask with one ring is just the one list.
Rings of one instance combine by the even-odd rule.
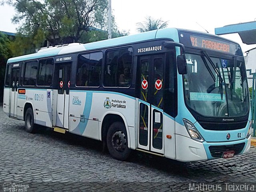
[[69, 128], [68, 110], [71, 66], [72, 62], [56, 64], [58, 71], [56, 126], [64, 129]]

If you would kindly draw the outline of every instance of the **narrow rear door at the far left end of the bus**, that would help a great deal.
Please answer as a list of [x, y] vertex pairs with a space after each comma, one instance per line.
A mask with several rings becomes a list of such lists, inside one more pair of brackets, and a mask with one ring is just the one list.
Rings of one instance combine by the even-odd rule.
[[[11, 99], [10, 99], [10, 116], [17, 118], [17, 98], [18, 98], [18, 85], [20, 78], [20, 68], [12, 68], [11, 70]], [[24, 96], [25, 97], [25, 96]]]

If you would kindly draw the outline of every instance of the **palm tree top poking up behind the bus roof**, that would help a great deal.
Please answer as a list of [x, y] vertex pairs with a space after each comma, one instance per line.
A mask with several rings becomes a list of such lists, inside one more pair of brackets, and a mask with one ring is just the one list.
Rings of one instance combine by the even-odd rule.
[[138, 26], [137, 28], [138, 32], [146, 32], [146, 31], [166, 28], [169, 22], [169, 21], [164, 22], [161, 18], [155, 20], [150, 16], [146, 17], [145, 19], [146, 20], [144, 22], [140, 22], [136, 24]]

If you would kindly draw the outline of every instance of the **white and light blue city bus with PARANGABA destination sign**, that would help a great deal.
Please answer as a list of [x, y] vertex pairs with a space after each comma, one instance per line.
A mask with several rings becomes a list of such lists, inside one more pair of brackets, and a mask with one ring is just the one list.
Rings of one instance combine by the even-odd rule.
[[3, 110], [25, 122], [182, 162], [250, 149], [249, 90], [240, 46], [165, 28], [10, 58]]

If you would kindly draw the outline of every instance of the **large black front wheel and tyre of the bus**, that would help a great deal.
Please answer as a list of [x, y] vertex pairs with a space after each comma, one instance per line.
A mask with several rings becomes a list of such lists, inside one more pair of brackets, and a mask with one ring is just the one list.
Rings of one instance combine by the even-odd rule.
[[122, 122], [114, 122], [107, 133], [107, 146], [110, 155], [117, 160], [126, 160], [131, 150], [128, 148], [128, 139], [125, 125]]

